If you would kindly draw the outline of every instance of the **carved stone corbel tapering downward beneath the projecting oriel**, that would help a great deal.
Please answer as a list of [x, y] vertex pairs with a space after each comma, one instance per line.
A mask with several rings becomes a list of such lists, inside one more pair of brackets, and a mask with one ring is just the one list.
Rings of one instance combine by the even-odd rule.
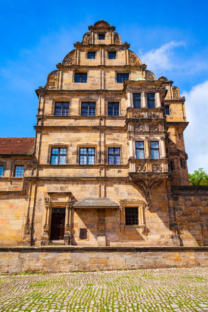
[[157, 188], [161, 183], [163, 183], [164, 179], [160, 178], [143, 178], [132, 177], [128, 175], [128, 180], [131, 181], [132, 184], [136, 185], [141, 193], [143, 194], [146, 200], [146, 209], [151, 209], [151, 193]]

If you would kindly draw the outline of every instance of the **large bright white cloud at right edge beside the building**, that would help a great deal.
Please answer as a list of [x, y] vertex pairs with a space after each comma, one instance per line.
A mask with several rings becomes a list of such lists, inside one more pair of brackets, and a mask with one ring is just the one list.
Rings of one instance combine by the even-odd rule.
[[194, 86], [186, 96], [186, 115], [190, 122], [185, 133], [189, 172], [202, 167], [208, 172], [208, 81]]

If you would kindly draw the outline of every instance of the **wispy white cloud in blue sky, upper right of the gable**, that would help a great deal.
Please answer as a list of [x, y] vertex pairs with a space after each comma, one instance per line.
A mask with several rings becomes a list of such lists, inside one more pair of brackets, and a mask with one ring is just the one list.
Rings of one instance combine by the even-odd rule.
[[149, 52], [140, 55], [142, 63], [148, 65], [152, 71], [172, 70], [175, 67], [173, 62], [173, 49], [177, 46], [185, 45], [184, 42], [171, 41], [163, 44], [158, 49], [152, 49]]

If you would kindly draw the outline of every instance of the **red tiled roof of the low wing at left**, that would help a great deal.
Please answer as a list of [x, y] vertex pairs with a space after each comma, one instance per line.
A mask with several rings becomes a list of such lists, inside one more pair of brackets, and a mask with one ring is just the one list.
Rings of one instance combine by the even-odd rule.
[[0, 138], [0, 154], [29, 155], [34, 151], [35, 138]]

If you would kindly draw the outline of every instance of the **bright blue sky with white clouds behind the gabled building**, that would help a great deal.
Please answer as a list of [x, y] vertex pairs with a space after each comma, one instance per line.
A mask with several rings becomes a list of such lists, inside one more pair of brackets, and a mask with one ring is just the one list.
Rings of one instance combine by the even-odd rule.
[[208, 172], [208, 2], [71, 2], [0, 0], [1, 137], [33, 137], [47, 75], [81, 41], [88, 25], [107, 20], [157, 78], [185, 95], [189, 171]]

